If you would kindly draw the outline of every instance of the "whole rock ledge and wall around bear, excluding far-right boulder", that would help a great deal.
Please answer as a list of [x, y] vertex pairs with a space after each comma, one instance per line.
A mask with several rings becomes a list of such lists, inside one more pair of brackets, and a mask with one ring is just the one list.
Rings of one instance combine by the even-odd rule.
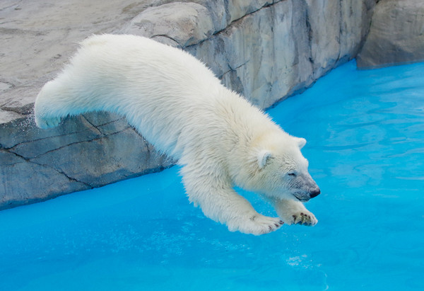
[[0, 3], [0, 208], [160, 171], [165, 156], [124, 118], [90, 113], [52, 130], [33, 122], [38, 91], [93, 33], [181, 47], [223, 83], [268, 108], [355, 57], [375, 0]]

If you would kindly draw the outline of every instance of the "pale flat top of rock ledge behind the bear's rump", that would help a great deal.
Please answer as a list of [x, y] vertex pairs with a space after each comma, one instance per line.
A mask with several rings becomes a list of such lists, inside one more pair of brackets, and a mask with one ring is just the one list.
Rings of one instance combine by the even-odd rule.
[[34, 102], [78, 41], [93, 33], [112, 33], [151, 2], [0, 1], [0, 122], [23, 117], [16, 108]]

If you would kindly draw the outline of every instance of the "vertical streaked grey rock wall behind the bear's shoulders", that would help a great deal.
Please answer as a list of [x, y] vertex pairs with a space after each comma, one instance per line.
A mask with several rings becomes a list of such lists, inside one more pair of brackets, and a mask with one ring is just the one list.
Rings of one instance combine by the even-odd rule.
[[353, 59], [372, 6], [355, 0], [279, 1], [185, 49], [206, 62], [225, 86], [268, 108]]

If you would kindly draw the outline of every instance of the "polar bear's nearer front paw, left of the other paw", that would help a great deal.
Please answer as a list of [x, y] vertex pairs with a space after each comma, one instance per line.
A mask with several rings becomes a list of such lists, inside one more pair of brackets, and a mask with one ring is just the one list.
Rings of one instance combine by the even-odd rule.
[[232, 232], [238, 230], [245, 234], [261, 235], [279, 229], [283, 223], [284, 222], [278, 217], [267, 217], [257, 213], [256, 215], [243, 219], [239, 225], [229, 224], [228, 229]]

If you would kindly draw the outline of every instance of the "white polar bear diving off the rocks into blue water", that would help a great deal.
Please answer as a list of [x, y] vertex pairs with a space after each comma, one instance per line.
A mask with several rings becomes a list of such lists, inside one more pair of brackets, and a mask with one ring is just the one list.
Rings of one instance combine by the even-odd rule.
[[[189, 53], [135, 35], [84, 40], [38, 94], [35, 122], [54, 127], [93, 110], [126, 116], [177, 159], [190, 202], [230, 231], [258, 235], [283, 223], [317, 223], [302, 204], [319, 194], [300, 153], [305, 139], [281, 130]], [[233, 186], [263, 195], [281, 218], [260, 215]]]

